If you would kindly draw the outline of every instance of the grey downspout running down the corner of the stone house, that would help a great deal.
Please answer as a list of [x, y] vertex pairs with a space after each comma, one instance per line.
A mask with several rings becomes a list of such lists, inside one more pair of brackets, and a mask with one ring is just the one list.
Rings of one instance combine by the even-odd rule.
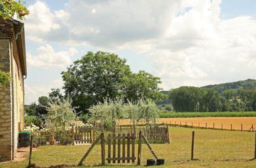
[[14, 159], [14, 82], [13, 82], [13, 73], [14, 73], [14, 70], [13, 70], [13, 48], [12, 48], [12, 43], [14, 41], [16, 41], [18, 39], [18, 35], [22, 34], [23, 32], [23, 29], [24, 29], [24, 24], [22, 25], [22, 30], [20, 32], [18, 32], [16, 35], [15, 35], [15, 38], [11, 40], [11, 44], [10, 44], [10, 50], [11, 50], [11, 76], [12, 76], [12, 159]]

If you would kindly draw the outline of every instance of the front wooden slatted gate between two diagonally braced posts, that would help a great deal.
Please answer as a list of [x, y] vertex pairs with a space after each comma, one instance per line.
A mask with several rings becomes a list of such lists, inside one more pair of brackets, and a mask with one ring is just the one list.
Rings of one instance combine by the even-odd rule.
[[[108, 141], [108, 158], [106, 158], [106, 160], [108, 160], [108, 163], [111, 163], [111, 160], [113, 161], [113, 163], [116, 163], [116, 160], [118, 163], [120, 163], [121, 160], [122, 160], [122, 163], [125, 163], [125, 160], [127, 160], [127, 163], [130, 163], [131, 160], [132, 162], [135, 162], [136, 136], [134, 133], [132, 134], [132, 136], [130, 136], [130, 133], [127, 133], [126, 136], [124, 133], [122, 134], [122, 136], [120, 133], [117, 136], [115, 133], [112, 136], [111, 134], [109, 134], [109, 136], [106, 139]], [[112, 157], [111, 157], [111, 144], [113, 144]], [[116, 146], [117, 146], [117, 151], [116, 151]], [[122, 146], [122, 156], [121, 156], [121, 146]], [[131, 147], [132, 147], [132, 150], [131, 150]], [[125, 150], [126, 150], [126, 156], [125, 156]]]

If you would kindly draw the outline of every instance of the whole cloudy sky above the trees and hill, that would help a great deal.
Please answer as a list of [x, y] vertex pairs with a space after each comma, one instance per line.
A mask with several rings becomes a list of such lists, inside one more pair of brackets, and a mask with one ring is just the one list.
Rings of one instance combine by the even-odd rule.
[[163, 90], [256, 79], [256, 1], [28, 0], [25, 104], [88, 51], [114, 52]]

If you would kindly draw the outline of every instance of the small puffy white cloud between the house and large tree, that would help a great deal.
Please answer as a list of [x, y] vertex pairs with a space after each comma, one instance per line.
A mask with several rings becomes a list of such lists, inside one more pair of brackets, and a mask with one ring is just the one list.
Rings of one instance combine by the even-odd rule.
[[27, 53], [27, 62], [30, 66], [38, 68], [65, 67], [72, 61], [71, 58], [78, 51], [71, 47], [68, 51], [55, 52], [49, 44], [37, 48], [38, 55]]

